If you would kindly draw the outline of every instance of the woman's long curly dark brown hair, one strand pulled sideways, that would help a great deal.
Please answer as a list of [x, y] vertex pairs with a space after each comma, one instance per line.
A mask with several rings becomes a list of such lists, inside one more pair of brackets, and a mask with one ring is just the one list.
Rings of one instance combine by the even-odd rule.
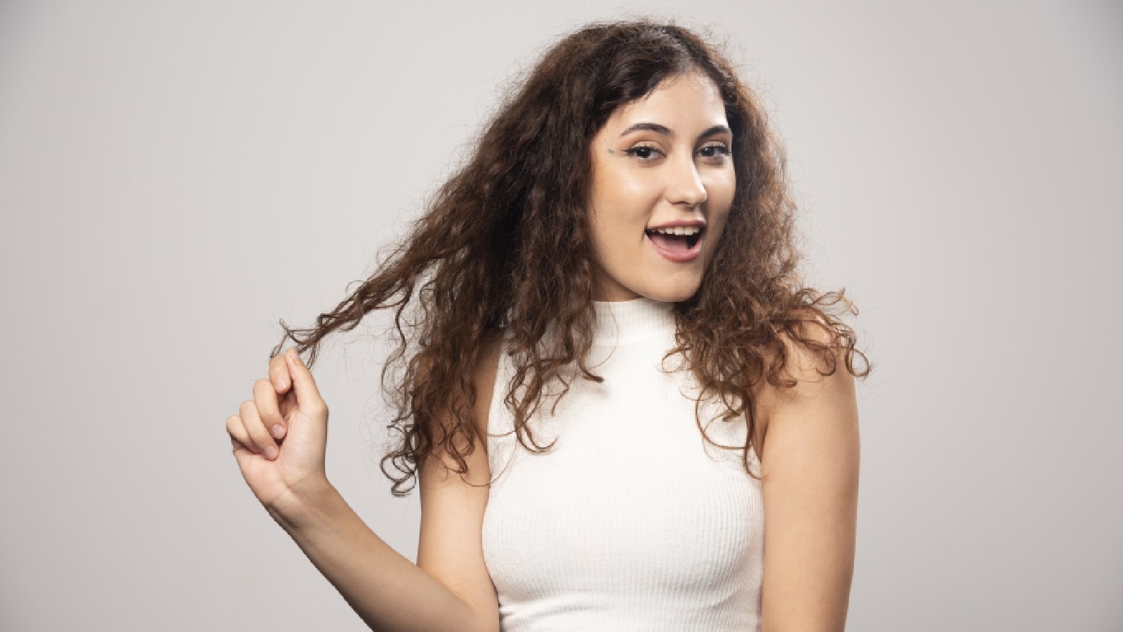
[[[586, 364], [595, 319], [591, 141], [617, 108], [691, 71], [712, 79], [724, 101], [737, 189], [697, 292], [674, 305], [677, 345], [668, 358], [683, 354], [702, 387], [699, 405], [716, 397], [724, 421], [747, 419], [746, 442], [737, 448], [750, 476], [752, 389], [761, 380], [795, 385], [784, 371], [789, 346], [821, 358], [823, 374], [837, 369], [840, 350], [847, 371], [869, 372], [853, 331], [831, 309], [857, 314], [844, 290], [823, 294], [800, 280], [783, 148], [729, 61], [679, 26], [590, 25], [544, 54], [486, 124], [466, 164], [369, 278], [314, 327], [281, 322], [284, 337], [272, 355], [292, 340], [311, 365], [325, 336], [353, 329], [373, 310], [394, 309], [398, 345], [382, 376], [396, 407], [389, 424], [396, 443], [382, 471], [395, 496], [412, 490], [419, 464], [438, 450], [455, 462], [454, 472], [467, 471], [465, 458], [480, 436], [474, 374], [495, 341], [504, 338], [514, 367], [510, 383], [495, 388], [505, 389], [518, 440], [533, 452], [553, 446], [539, 445], [529, 423], [545, 389], [562, 383], [564, 396], [573, 376], [601, 380]], [[865, 369], [856, 370], [856, 354]], [[705, 435], [701, 418], [699, 428]]]

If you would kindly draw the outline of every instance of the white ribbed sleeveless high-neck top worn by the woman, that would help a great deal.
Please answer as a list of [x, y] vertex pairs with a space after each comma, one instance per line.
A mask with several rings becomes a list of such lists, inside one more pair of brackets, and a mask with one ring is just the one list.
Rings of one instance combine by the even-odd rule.
[[[677, 356], [667, 368], [678, 370], [660, 372], [672, 308], [646, 298], [596, 304], [591, 362], [604, 381], [573, 380], [554, 414], [545, 403], [531, 430], [539, 444], [557, 443], [541, 454], [509, 434], [512, 373], [501, 354], [483, 548], [504, 631], [759, 630], [760, 484], [741, 450], [702, 439], [697, 383]], [[720, 408], [703, 410], [706, 423]], [[707, 432], [740, 446], [745, 427], [716, 419]]]

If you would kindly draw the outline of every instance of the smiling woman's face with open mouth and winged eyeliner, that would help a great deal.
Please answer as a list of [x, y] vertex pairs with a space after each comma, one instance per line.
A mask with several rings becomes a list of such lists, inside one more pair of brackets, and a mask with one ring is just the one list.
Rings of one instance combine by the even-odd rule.
[[596, 300], [694, 296], [733, 202], [732, 142], [718, 87], [697, 72], [612, 112], [591, 147]]

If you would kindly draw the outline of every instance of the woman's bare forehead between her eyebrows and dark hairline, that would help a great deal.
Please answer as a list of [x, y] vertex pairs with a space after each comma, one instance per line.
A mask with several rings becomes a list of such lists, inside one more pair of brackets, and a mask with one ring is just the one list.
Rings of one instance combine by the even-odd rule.
[[649, 94], [620, 106], [605, 121], [605, 130], [637, 121], [663, 123], [668, 127], [728, 125], [725, 103], [712, 79], [701, 72], [673, 74]]

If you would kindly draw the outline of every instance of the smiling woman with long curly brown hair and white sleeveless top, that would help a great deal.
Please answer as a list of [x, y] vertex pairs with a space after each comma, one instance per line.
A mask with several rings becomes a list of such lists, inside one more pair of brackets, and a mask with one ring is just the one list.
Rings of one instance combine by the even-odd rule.
[[868, 367], [828, 309], [852, 306], [796, 263], [783, 157], [730, 64], [681, 27], [590, 26], [375, 274], [285, 327], [312, 364], [396, 309], [383, 470], [420, 481], [417, 565], [328, 482], [296, 350], [227, 431], [372, 629], [841, 630]]

